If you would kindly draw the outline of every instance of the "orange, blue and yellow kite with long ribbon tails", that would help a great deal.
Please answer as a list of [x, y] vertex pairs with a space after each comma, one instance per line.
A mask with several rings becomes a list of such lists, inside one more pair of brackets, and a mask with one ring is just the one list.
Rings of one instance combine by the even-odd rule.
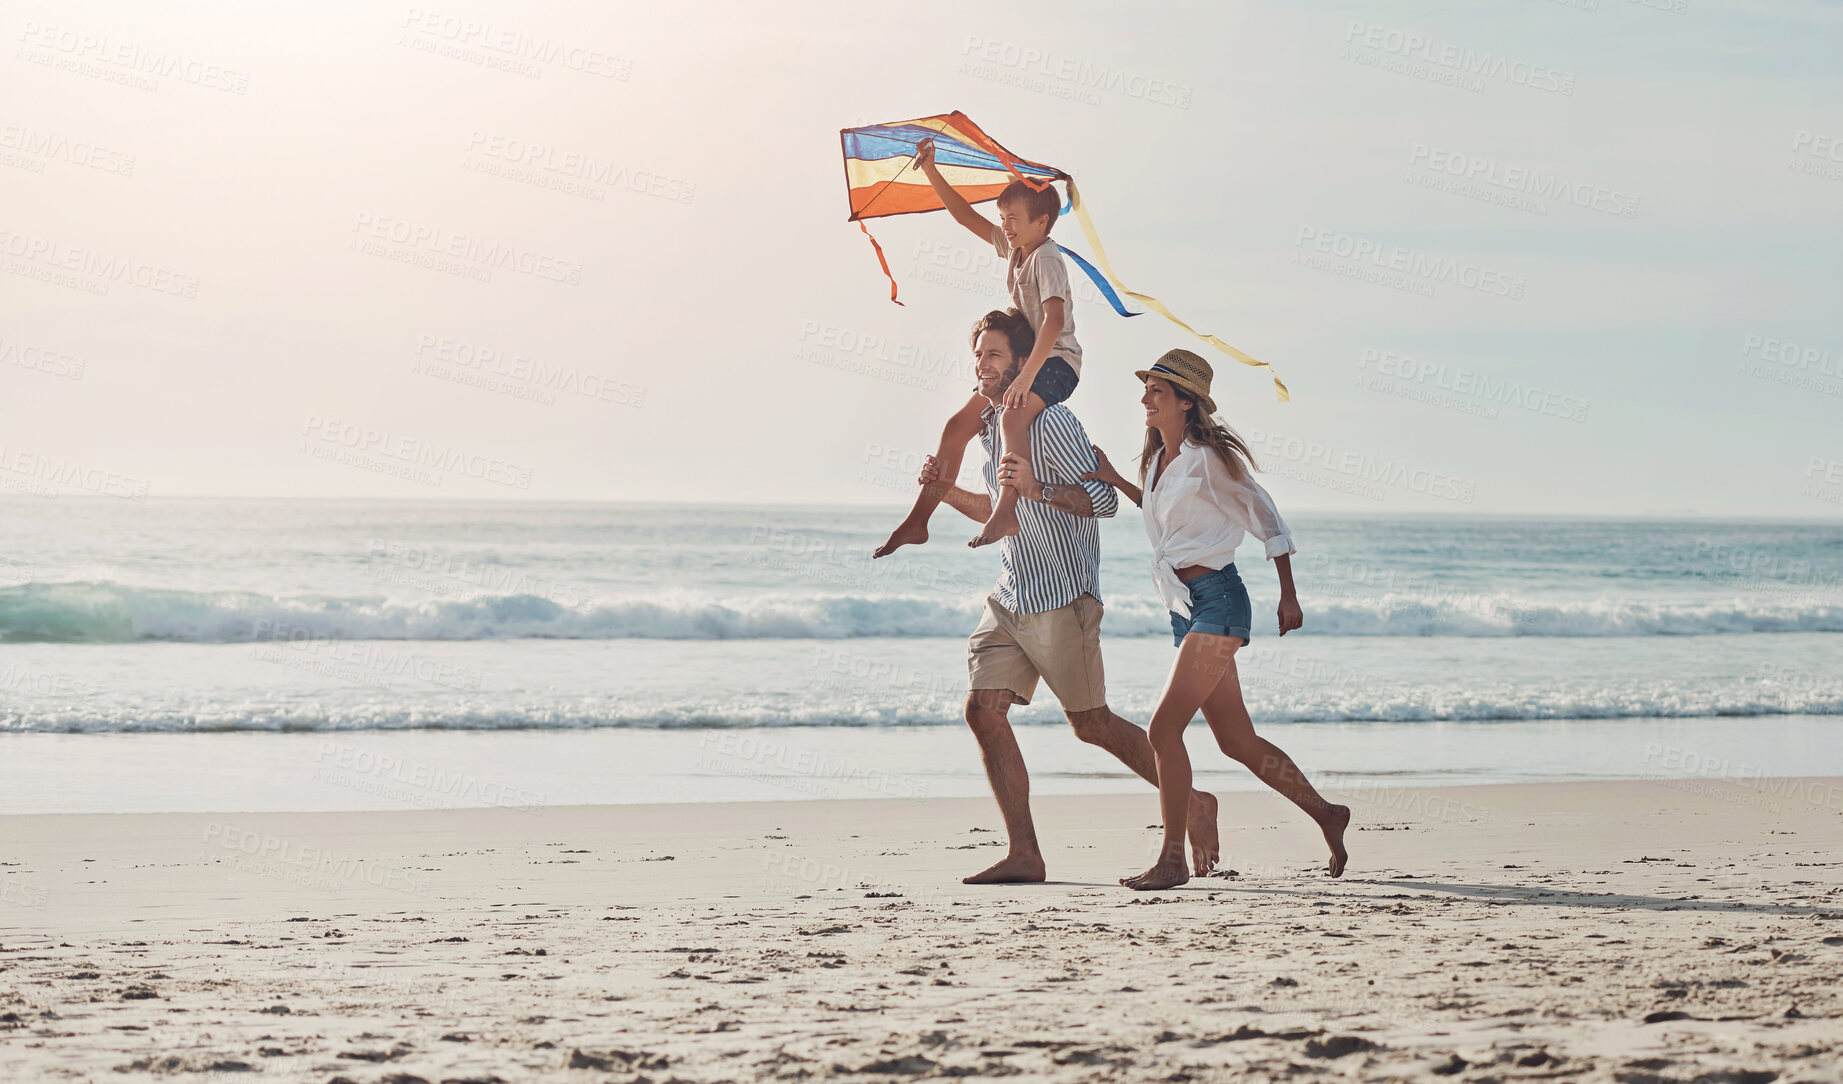
[[[1019, 159], [980, 131], [964, 112], [870, 124], [864, 127], [848, 127], [839, 133], [839, 142], [844, 146], [844, 184], [851, 199], [851, 216], [846, 221], [855, 221], [857, 229], [864, 230], [864, 236], [870, 238], [870, 247], [877, 253], [877, 264], [883, 265], [883, 275], [890, 280], [890, 300], [896, 300], [896, 277], [890, 275], [890, 262], [883, 258], [883, 245], [877, 243], [877, 238], [870, 236], [870, 227], [864, 225], [864, 219], [945, 210], [927, 177], [909, 170], [923, 140], [934, 140], [934, 164], [940, 168], [942, 177], [968, 203], [997, 199], [1012, 181], [1023, 181], [1032, 188], [1047, 188], [1052, 181], [1062, 181], [1069, 188], [1069, 205], [1063, 208], [1063, 214], [1073, 212], [1076, 221], [1082, 223], [1082, 234], [1087, 238], [1087, 245], [1095, 253], [1095, 264], [1100, 264], [1100, 267], [1097, 269], [1095, 264], [1074, 254], [1069, 245], [1058, 243], [1058, 247], [1095, 280], [1095, 286], [1100, 288], [1113, 312], [1126, 317], [1141, 315], [1126, 310], [1121, 302], [1121, 293], [1124, 293], [1242, 365], [1266, 369], [1268, 374], [1274, 374], [1274, 367], [1266, 361], [1257, 361], [1216, 336], [1205, 336], [1180, 321], [1159, 299], [1126, 289], [1108, 264], [1108, 251], [1100, 247], [1100, 236], [1095, 232], [1095, 223], [1087, 218], [1082, 194], [1074, 188], [1074, 177], [1054, 166]], [[901, 302], [896, 300], [896, 304]], [[1279, 376], [1274, 376], [1274, 389], [1281, 402], [1290, 398]]]

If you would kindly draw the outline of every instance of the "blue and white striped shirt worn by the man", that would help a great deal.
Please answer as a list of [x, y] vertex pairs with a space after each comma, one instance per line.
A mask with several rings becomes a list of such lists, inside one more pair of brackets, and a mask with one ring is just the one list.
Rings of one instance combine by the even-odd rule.
[[[988, 406], [979, 433], [986, 446], [986, 492], [999, 500], [999, 407]], [[1104, 481], [1082, 481], [1098, 468], [1095, 446], [1069, 407], [1049, 406], [1030, 422], [1030, 470], [1043, 485], [1078, 485], [1095, 501], [1095, 516], [1111, 516], [1121, 498]], [[1100, 527], [1023, 494], [1017, 500], [1017, 533], [999, 542], [999, 584], [992, 597], [1014, 614], [1041, 614], [1067, 607], [1082, 595], [1100, 599]]]

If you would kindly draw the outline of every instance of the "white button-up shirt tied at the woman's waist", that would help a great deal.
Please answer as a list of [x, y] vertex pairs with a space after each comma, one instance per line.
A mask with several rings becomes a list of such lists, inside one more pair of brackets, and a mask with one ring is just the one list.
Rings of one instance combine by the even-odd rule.
[[[1163, 452], [1159, 454], [1163, 457]], [[1191, 616], [1191, 588], [1180, 568], [1222, 568], [1235, 560], [1246, 535], [1266, 542], [1268, 560], [1296, 553], [1292, 533], [1274, 498], [1253, 477], [1237, 479], [1213, 448], [1185, 441], [1163, 474], [1159, 459], [1146, 470], [1143, 509], [1152, 540], [1152, 583], [1165, 608]]]

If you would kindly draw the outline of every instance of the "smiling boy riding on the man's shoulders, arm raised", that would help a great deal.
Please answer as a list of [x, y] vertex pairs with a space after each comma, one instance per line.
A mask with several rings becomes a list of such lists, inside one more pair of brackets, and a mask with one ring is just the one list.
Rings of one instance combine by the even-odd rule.
[[[940, 197], [947, 214], [966, 229], [973, 230], [980, 242], [997, 249], [1004, 256], [1004, 286], [1025, 319], [1036, 332], [1030, 358], [1010, 391], [1004, 393], [1004, 418], [1001, 437], [1004, 452], [1030, 454], [1030, 422], [1051, 404], [1069, 398], [1082, 372], [1082, 347], [1074, 341], [1074, 313], [1069, 312], [1069, 265], [1049, 240], [1049, 229], [1062, 214], [1062, 199], [1047, 186], [1039, 192], [1023, 181], [999, 194], [999, 221], [993, 225], [973, 210], [958, 192], [940, 175], [934, 166], [934, 140], [925, 140], [916, 149], [916, 170], [922, 170], [934, 195]], [[960, 474], [960, 457], [966, 444], [980, 430], [980, 415], [986, 400], [977, 393], [966, 400], [947, 428], [940, 435], [940, 450], [934, 459], [940, 463], [942, 483], [922, 487], [909, 516], [890, 531], [888, 540], [872, 553], [885, 557], [899, 546], [927, 542], [927, 522], [940, 505], [942, 494]], [[992, 509], [992, 516], [968, 546], [990, 546], [1006, 535], [1017, 533], [1017, 490], [1004, 487]]]

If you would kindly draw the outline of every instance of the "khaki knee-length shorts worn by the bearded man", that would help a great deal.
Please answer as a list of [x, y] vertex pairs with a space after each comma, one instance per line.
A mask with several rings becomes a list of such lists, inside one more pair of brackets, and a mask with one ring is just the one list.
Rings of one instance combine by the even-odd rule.
[[1063, 712], [1087, 712], [1108, 702], [1100, 671], [1100, 599], [1082, 595], [1043, 614], [1014, 614], [986, 597], [986, 616], [966, 642], [966, 671], [973, 689], [1006, 689], [1028, 704], [1038, 678], [1062, 701]]

